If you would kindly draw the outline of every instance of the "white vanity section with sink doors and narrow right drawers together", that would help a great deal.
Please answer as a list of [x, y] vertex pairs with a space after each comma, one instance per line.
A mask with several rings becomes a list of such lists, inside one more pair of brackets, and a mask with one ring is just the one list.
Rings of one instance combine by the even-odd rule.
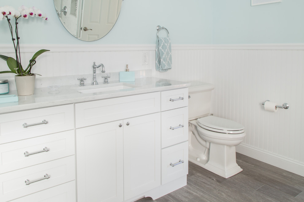
[[76, 103], [75, 112], [78, 201], [160, 197], [185, 185], [174, 180], [188, 174], [188, 88]]

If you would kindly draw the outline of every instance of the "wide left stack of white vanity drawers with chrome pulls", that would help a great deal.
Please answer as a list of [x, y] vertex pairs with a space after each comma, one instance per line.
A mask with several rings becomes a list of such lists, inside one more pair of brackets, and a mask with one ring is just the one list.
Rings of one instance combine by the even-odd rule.
[[0, 201], [76, 200], [73, 118], [73, 104], [0, 114]]

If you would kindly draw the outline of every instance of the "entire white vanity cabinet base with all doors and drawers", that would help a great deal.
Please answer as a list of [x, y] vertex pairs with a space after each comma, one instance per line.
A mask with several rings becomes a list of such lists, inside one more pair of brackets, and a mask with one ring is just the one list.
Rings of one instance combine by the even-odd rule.
[[90, 98], [0, 114], [1, 202], [131, 202], [186, 185], [188, 88]]

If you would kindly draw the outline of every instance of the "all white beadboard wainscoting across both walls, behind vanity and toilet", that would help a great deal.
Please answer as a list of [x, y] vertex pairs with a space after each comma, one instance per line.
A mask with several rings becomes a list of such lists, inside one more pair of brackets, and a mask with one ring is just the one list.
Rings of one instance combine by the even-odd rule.
[[[33, 67], [34, 73], [42, 75], [37, 76], [38, 80], [90, 77], [96, 62], [103, 63], [111, 77], [129, 64], [130, 71], [144, 72], [138, 74], [141, 77], [213, 83], [211, 112], [246, 127], [247, 136], [236, 150], [304, 176], [303, 44], [172, 45], [173, 67], [167, 72], [155, 71], [155, 45], [22, 47], [23, 62], [29, 61], [37, 50], [51, 50], [39, 56]], [[142, 65], [145, 52], [148, 65]], [[4, 45], [0, 54], [14, 57], [14, 50]], [[4, 70], [8, 68], [1, 60], [0, 71]], [[13, 83], [14, 75], [2, 74], [0, 78]], [[71, 84], [78, 82], [75, 78]], [[286, 102], [290, 108], [265, 111], [261, 103], [267, 99], [279, 105]]]

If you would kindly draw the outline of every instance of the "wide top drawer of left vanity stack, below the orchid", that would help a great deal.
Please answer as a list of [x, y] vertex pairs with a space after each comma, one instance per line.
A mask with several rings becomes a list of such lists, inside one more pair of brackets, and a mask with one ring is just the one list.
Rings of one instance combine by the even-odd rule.
[[[73, 117], [72, 104], [0, 114], [0, 144], [73, 129]], [[23, 126], [24, 123], [32, 125], [43, 120], [48, 123]]]

